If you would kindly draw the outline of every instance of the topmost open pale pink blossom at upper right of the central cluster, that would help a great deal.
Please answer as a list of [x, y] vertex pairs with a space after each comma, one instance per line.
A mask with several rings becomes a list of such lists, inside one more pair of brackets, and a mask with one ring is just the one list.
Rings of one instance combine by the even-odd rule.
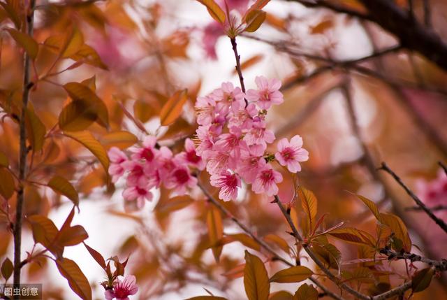
[[257, 90], [247, 91], [247, 100], [258, 104], [261, 109], [269, 109], [272, 104], [281, 104], [284, 97], [279, 92], [281, 81], [276, 78], [268, 80], [263, 76], [256, 77]]

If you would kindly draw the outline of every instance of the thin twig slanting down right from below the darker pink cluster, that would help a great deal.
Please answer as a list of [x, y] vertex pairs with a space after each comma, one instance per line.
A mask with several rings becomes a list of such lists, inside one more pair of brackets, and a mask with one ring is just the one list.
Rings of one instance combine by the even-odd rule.
[[[217, 201], [217, 199], [215, 199], [212, 194], [206, 189], [206, 187], [204, 187], [201, 183], [198, 183], [198, 187], [200, 187], [200, 190], [202, 190], [203, 194], [205, 194], [205, 196], [207, 197], [208, 201], [210, 201], [210, 203], [212, 203], [214, 206], [217, 207], [217, 209], [219, 209], [221, 211], [221, 213], [223, 213], [223, 215], [226, 215], [227, 217], [230, 218], [230, 220], [232, 220], [233, 222], [235, 222], [235, 224], [237, 224], [237, 226], [242, 229], [246, 234], [248, 234], [249, 236], [251, 236], [251, 238], [254, 239], [254, 241], [256, 241], [256, 243], [258, 243], [262, 248], [264, 248], [265, 250], [267, 250], [271, 255], [273, 255], [274, 259], [279, 260], [280, 262], [283, 262], [284, 264], [286, 264], [287, 266], [294, 266], [291, 262], [288, 262], [288, 260], [284, 259], [283, 257], [281, 257], [280, 255], [277, 254], [277, 252], [275, 252], [270, 245], [268, 245], [268, 243], [265, 243], [265, 241], [261, 240], [260, 238], [258, 238], [258, 236], [254, 235], [253, 232], [251, 232], [251, 230], [245, 226], [244, 224], [242, 224], [242, 222], [240, 222], [239, 220], [237, 220], [237, 218], [230, 213], [229, 210], [227, 210], [224, 206], [222, 206], [221, 203], [219, 203], [219, 201]], [[312, 283], [314, 283], [317, 287], [319, 287], [321, 290], [323, 290], [323, 292], [325, 292], [325, 294], [327, 294], [328, 296], [332, 297], [333, 299], [337, 299], [337, 300], [344, 300], [342, 297], [338, 296], [337, 294], [334, 294], [332, 292], [330, 292], [330, 290], [328, 290], [324, 285], [322, 285], [321, 283], [318, 282], [318, 280], [316, 280], [315, 278], [310, 278], [310, 280], [312, 281]]]

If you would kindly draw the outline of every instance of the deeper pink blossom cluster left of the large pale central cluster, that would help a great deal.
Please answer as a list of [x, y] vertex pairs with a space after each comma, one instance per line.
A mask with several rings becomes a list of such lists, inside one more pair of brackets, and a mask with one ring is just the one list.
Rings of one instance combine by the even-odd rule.
[[109, 173], [112, 182], [126, 176], [126, 188], [123, 197], [133, 201], [138, 209], [151, 201], [152, 188], [161, 184], [177, 194], [185, 194], [189, 188], [197, 185], [197, 178], [191, 169], [205, 169], [205, 162], [196, 155], [196, 148], [191, 139], [186, 138], [184, 151], [173, 155], [166, 146], [159, 147], [155, 136], [147, 136], [142, 145], [129, 149], [130, 155], [116, 147], [110, 148]]

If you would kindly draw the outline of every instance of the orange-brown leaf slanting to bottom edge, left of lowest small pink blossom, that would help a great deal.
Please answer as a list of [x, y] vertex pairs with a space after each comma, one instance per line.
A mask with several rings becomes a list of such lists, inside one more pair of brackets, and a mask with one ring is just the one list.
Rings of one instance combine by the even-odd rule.
[[71, 259], [61, 258], [56, 259], [56, 266], [59, 273], [61, 273], [61, 276], [64, 276], [68, 281], [68, 285], [70, 285], [73, 292], [78, 294], [83, 300], [91, 300], [91, 287], [89, 281], [84, 273], [82, 273], [78, 264]]

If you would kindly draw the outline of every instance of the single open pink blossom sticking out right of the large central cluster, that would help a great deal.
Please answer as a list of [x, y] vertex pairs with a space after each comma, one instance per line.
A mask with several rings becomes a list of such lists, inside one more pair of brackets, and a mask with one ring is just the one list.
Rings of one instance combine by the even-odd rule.
[[287, 138], [281, 138], [277, 145], [278, 152], [274, 155], [281, 166], [287, 166], [288, 171], [296, 173], [301, 171], [300, 162], [309, 159], [309, 152], [302, 148], [301, 136], [293, 136], [288, 142]]

